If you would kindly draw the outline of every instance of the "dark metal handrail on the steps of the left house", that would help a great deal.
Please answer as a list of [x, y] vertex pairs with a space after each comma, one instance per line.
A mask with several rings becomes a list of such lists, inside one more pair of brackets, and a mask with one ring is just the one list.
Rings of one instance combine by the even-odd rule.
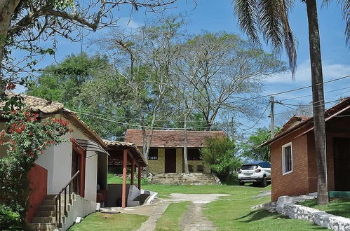
[[[64, 214], [67, 216], [67, 187], [69, 186], [69, 204], [72, 204], [72, 183], [74, 179], [76, 179], [76, 176], [78, 176], [80, 173], [80, 170], [78, 170], [72, 178], [68, 181], [68, 183], [63, 187], [60, 192], [53, 197], [53, 200], [55, 200], [55, 226], [56, 228], [62, 228], [62, 216], [61, 216], [61, 194], [65, 193], [65, 207], [64, 207]], [[79, 186], [78, 186], [79, 188]], [[80, 193], [80, 192], [79, 192]]]

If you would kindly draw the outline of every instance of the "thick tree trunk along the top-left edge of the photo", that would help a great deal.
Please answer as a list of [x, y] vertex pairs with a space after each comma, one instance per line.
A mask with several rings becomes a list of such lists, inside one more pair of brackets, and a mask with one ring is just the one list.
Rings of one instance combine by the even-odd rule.
[[20, 0], [1, 0], [0, 1], [0, 96], [5, 93], [6, 83], [4, 82], [4, 70], [2, 62], [4, 62], [5, 45], [7, 41], [8, 28], [15, 8], [17, 8]]

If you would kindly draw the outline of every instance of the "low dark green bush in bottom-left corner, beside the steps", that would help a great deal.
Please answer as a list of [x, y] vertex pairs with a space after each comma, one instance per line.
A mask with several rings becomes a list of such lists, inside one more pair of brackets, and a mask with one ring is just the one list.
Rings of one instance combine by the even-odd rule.
[[0, 204], [0, 230], [22, 230], [20, 214], [5, 204]]

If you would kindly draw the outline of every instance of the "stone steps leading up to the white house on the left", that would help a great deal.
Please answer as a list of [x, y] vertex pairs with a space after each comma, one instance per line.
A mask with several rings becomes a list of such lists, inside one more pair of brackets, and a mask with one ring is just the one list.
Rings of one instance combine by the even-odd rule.
[[[43, 202], [41, 202], [41, 206], [34, 214], [32, 223], [27, 224], [28, 230], [55, 230], [55, 200], [53, 200], [53, 197], [55, 197], [55, 195], [46, 195]], [[65, 205], [63, 197], [65, 197], [65, 195], [61, 195], [61, 211], [63, 211]], [[63, 219], [63, 215], [62, 213], [61, 219]]]

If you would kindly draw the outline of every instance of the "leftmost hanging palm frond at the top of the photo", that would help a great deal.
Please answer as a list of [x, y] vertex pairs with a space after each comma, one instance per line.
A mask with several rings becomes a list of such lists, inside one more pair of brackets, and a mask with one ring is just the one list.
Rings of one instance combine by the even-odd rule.
[[257, 0], [233, 0], [234, 12], [237, 15], [240, 27], [253, 40], [254, 43], [260, 44], [257, 34], [259, 8]]

